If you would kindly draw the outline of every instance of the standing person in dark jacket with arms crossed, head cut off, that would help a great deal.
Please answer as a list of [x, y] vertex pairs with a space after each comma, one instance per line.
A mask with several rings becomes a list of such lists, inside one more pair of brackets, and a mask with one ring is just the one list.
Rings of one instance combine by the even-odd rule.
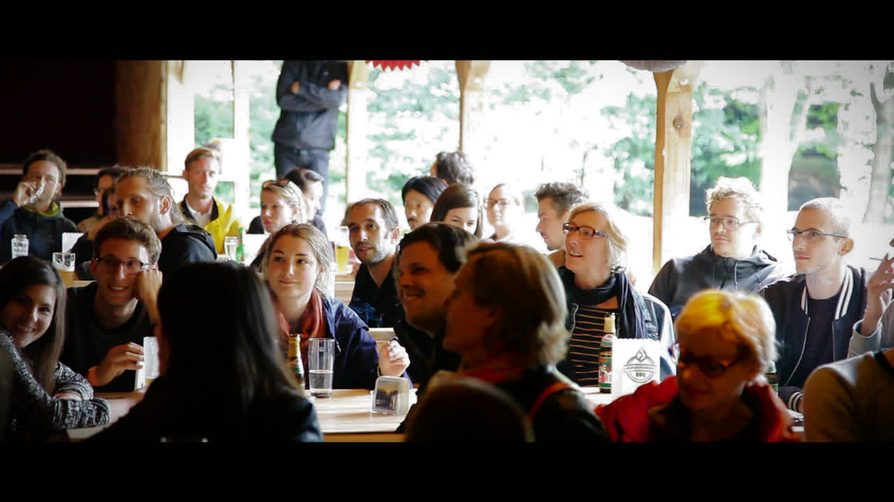
[[346, 61], [283, 61], [276, 81], [274, 163], [276, 178], [296, 167], [318, 172], [325, 183], [321, 211], [329, 193], [329, 151], [335, 146], [338, 111], [348, 98]]

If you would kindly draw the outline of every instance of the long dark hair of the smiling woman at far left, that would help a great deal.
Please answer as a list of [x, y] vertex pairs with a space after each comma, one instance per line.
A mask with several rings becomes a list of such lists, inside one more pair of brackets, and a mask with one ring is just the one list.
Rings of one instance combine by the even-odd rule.
[[0, 269], [0, 310], [35, 284], [46, 284], [55, 290], [53, 321], [43, 336], [28, 347], [23, 347], [21, 352], [30, 359], [34, 378], [47, 394], [52, 395], [55, 388], [55, 367], [65, 343], [65, 283], [59, 277], [59, 272], [56, 272], [52, 264], [37, 256], [20, 256], [6, 262]]

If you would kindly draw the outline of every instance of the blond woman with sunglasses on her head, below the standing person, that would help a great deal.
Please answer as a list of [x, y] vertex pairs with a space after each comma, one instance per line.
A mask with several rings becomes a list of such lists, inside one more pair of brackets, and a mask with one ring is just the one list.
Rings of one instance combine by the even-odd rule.
[[[264, 231], [257, 231], [257, 229], [250, 231], [249, 229], [249, 233], [274, 234], [285, 225], [307, 222], [308, 217], [301, 189], [290, 180], [266, 180], [261, 186], [260, 219]], [[264, 263], [269, 242], [270, 239], [267, 238], [257, 251], [254, 261], [251, 262], [251, 266], [257, 270], [260, 270], [261, 264]]]

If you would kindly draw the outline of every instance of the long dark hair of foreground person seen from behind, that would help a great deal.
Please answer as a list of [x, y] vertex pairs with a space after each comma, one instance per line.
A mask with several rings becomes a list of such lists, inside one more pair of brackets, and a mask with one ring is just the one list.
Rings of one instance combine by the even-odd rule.
[[301, 395], [279, 348], [273, 302], [250, 267], [183, 265], [164, 277], [158, 313], [175, 402], [236, 418], [258, 399]]

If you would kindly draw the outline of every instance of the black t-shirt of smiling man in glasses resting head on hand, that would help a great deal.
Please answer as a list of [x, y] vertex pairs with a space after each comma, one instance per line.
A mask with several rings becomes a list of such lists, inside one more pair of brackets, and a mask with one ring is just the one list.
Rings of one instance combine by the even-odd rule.
[[[138, 303], [131, 319], [121, 326], [105, 329], [99, 324], [93, 302], [97, 282], [80, 288], [69, 288], [65, 305], [65, 345], [59, 361], [75, 372], [86, 375], [92, 366], [102, 363], [112, 347], [127, 342], [143, 345], [143, 337], [153, 336], [152, 324], [143, 304]], [[113, 381], [97, 387], [97, 392], [130, 392], [135, 372], [127, 370]]]

